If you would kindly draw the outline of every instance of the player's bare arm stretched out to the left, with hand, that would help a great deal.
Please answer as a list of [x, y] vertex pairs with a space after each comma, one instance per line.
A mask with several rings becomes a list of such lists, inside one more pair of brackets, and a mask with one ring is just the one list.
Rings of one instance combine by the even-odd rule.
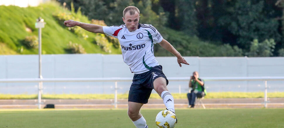
[[64, 21], [64, 25], [67, 27], [74, 27], [74, 26], [79, 26], [89, 32], [92, 33], [102, 33], [105, 34], [104, 31], [102, 30], [102, 26], [100, 25], [95, 25], [95, 24], [90, 24], [90, 23], [82, 23], [79, 21], [73, 21], [73, 20], [68, 20]]

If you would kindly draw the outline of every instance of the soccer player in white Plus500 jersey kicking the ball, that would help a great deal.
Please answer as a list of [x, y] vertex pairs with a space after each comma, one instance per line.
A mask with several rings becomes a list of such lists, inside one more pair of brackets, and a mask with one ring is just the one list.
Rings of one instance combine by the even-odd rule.
[[163, 39], [158, 30], [149, 24], [140, 24], [140, 11], [135, 6], [128, 6], [123, 11], [122, 20], [125, 23], [120, 26], [100, 26], [81, 23], [78, 21], [64, 21], [67, 27], [79, 26], [93, 33], [102, 33], [119, 40], [123, 61], [134, 73], [128, 96], [128, 116], [137, 128], [148, 128], [146, 120], [140, 114], [143, 104], [154, 89], [163, 99], [166, 108], [174, 111], [174, 98], [167, 90], [168, 80], [162, 71], [162, 66], [154, 56], [153, 48], [158, 43], [163, 48], [177, 57], [177, 63], [181, 67], [187, 61], [174, 47]]

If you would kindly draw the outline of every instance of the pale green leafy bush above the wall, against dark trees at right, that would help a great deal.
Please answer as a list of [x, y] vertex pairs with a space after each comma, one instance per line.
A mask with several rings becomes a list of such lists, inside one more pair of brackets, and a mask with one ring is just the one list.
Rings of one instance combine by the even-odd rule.
[[275, 49], [275, 42], [273, 39], [264, 40], [259, 43], [257, 39], [251, 43], [250, 51], [247, 53], [249, 57], [270, 57], [273, 55]]

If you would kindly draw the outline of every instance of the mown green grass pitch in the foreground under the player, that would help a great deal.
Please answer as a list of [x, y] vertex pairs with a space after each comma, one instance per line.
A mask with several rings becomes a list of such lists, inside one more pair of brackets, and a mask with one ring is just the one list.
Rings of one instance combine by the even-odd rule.
[[[160, 110], [142, 109], [150, 128]], [[284, 109], [177, 109], [175, 128], [284, 127]], [[0, 128], [135, 128], [127, 110], [0, 110]]]

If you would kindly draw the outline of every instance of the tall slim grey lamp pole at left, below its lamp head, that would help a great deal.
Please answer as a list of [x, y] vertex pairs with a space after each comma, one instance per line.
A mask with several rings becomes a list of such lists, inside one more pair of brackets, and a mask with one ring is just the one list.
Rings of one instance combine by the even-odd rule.
[[[41, 74], [41, 28], [38, 28], [38, 64], [39, 64], [39, 78], [42, 79]], [[42, 94], [42, 82], [38, 83], [38, 109], [41, 109], [41, 94]]]

